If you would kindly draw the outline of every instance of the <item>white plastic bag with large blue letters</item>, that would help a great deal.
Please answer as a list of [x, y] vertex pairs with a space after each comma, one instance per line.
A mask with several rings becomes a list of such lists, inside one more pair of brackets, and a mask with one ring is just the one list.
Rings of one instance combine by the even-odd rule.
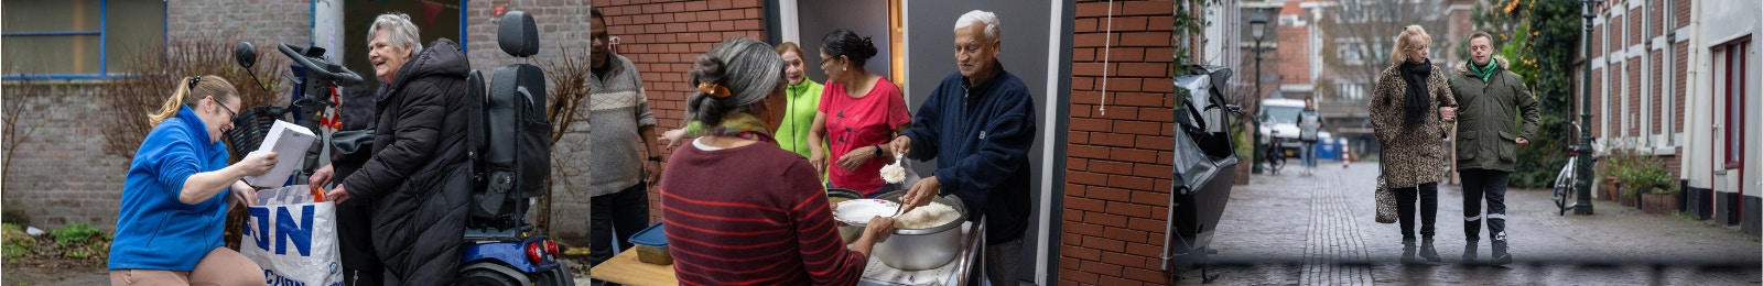
[[307, 185], [257, 192], [238, 252], [263, 267], [268, 284], [342, 284], [337, 205], [312, 201]]

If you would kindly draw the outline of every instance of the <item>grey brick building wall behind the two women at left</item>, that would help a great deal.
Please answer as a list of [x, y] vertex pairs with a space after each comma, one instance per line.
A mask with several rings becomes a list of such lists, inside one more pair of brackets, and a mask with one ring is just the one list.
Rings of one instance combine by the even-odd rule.
[[[11, 9], [11, 2], [7, 4]], [[522, 62], [502, 53], [495, 46], [495, 25], [497, 14], [494, 14], [495, 5], [504, 5], [506, 11], [527, 11], [539, 25], [541, 49], [532, 56], [532, 64], [545, 67], [548, 62], [561, 58], [561, 49], [564, 46], [587, 46], [587, 2], [585, 0], [568, 0], [568, 2], [469, 2], [462, 9], [465, 19], [467, 34], [464, 44], [469, 51], [472, 69], [483, 72], [494, 72], [495, 67]], [[316, 2], [266, 2], [240, 5], [236, 2], [222, 0], [185, 0], [185, 2], [164, 2], [162, 9], [111, 9], [109, 14], [115, 16], [164, 16], [164, 37], [166, 39], [208, 39], [217, 35], [238, 37], [240, 41], [250, 41], [257, 48], [273, 48], [277, 42], [289, 44], [312, 44], [328, 37], [316, 37], [317, 32], [326, 32], [326, 28], [314, 28], [324, 25], [356, 23], [361, 19], [337, 19], [317, 23], [314, 14], [326, 14], [321, 9], [335, 9], [335, 14], [342, 14], [342, 7], [321, 5]], [[453, 9], [458, 9], [457, 5]], [[404, 11], [418, 18], [421, 11]], [[441, 14], [443, 18], [451, 18], [453, 14]], [[577, 34], [573, 34], [578, 30]], [[11, 30], [9, 30], [11, 32]], [[425, 37], [448, 37], [458, 41], [458, 35], [430, 35]], [[11, 39], [11, 37], [9, 37]], [[361, 46], [363, 35], [335, 35], [342, 46], [319, 46], [330, 49], [331, 56], [365, 58], [365, 48]], [[427, 42], [425, 42], [427, 44]], [[280, 53], [257, 55], [259, 58], [282, 56]], [[582, 56], [571, 53], [571, 56]], [[111, 56], [109, 62], [122, 62], [125, 58]], [[363, 76], [372, 76], [372, 71], [356, 69]], [[14, 67], [7, 67], [7, 76], [18, 74]], [[115, 76], [116, 72], [111, 72]], [[279, 87], [284, 90], [277, 94], [286, 94], [287, 83], [279, 74], [257, 74], [266, 81], [282, 81]], [[243, 78], [234, 78], [233, 81], [249, 81]], [[26, 81], [9, 79], [9, 90], [14, 85], [25, 85]], [[18, 152], [9, 154], [5, 161], [12, 166], [5, 171], [4, 180], [4, 201], [7, 214], [23, 214], [30, 217], [26, 224], [39, 228], [60, 228], [69, 222], [86, 222], [97, 228], [109, 230], [116, 222], [116, 208], [122, 198], [123, 173], [129, 168], [129, 161], [118, 155], [102, 155], [104, 134], [99, 124], [86, 118], [86, 115], [106, 113], [100, 109], [99, 97], [104, 95], [104, 85], [108, 79], [102, 76], [62, 76], [58, 79], [35, 79], [28, 85], [41, 85], [53, 90], [55, 95], [49, 97], [28, 97], [23, 108], [28, 111], [51, 111], [41, 117], [32, 113], [19, 120], [19, 125], [37, 127], [23, 141], [7, 141], [9, 150]], [[376, 79], [368, 79], [367, 85], [377, 85]], [[16, 101], [9, 94], [7, 101]], [[286, 102], [286, 99], [282, 99]], [[569, 141], [585, 141], [585, 124], [571, 127], [571, 134], [559, 143], [559, 152], [555, 155], [585, 155], [585, 147], [568, 145]], [[569, 139], [582, 138], [582, 139]], [[16, 145], [14, 145], [16, 143]], [[566, 161], [568, 164], [568, 161]], [[585, 162], [580, 162], [585, 166]], [[564, 169], [568, 166], [559, 166]], [[580, 184], [578, 191], [559, 187], [559, 214], [585, 214], [587, 212], [587, 189]], [[568, 194], [584, 194], [575, 199]], [[573, 207], [573, 208], [571, 208]], [[582, 242], [587, 238], [587, 226], [557, 226], [555, 235], [564, 238], [578, 237]]]

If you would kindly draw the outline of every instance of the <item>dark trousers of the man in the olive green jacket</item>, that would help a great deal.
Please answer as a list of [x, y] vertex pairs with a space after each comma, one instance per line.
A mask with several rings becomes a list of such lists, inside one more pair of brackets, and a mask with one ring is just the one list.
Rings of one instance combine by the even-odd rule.
[[1488, 199], [1488, 237], [1506, 244], [1506, 182], [1511, 173], [1499, 169], [1463, 169], [1463, 237], [1481, 238], [1481, 199]]

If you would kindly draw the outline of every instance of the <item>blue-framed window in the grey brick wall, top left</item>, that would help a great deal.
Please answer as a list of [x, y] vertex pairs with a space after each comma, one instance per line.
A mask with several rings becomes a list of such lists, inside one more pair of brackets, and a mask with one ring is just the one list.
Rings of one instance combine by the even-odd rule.
[[5, 2], [5, 78], [100, 79], [164, 48], [164, 0]]

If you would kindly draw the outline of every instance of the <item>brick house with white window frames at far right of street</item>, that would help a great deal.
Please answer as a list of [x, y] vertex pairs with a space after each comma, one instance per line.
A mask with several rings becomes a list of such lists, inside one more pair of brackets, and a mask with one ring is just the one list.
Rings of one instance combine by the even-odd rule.
[[1763, 233], [1763, 152], [1749, 152], [1763, 109], [1754, 44], [1763, 5], [1611, 0], [1594, 11], [1588, 127], [1599, 154], [1652, 155], [1682, 180], [1685, 212]]

